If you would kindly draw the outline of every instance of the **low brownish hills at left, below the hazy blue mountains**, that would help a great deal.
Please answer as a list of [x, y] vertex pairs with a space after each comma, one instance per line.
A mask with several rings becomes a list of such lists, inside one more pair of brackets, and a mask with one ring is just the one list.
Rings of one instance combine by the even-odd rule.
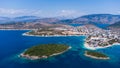
[[63, 27], [71, 29], [72, 26], [49, 23], [6, 23], [0, 24], [0, 29], [39, 29], [39, 28]]

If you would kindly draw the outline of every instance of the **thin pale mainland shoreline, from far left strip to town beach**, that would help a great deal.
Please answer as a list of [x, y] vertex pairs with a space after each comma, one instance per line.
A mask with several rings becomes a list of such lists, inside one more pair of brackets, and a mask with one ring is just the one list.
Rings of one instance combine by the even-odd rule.
[[[35, 29], [0, 29], [0, 30], [35, 30]], [[23, 36], [35, 36], [35, 37], [67, 37], [67, 36], [86, 36], [86, 35], [32, 35], [32, 34], [28, 34], [30, 31], [23, 33]], [[89, 44], [87, 44], [86, 42], [84, 43], [84, 48], [89, 49], [89, 50], [97, 50], [97, 49], [103, 49], [103, 48], [108, 48], [108, 47], [112, 47], [114, 45], [120, 45], [120, 43], [114, 43], [112, 45], [107, 45], [104, 47], [101, 46], [97, 46], [97, 47], [92, 47]]]

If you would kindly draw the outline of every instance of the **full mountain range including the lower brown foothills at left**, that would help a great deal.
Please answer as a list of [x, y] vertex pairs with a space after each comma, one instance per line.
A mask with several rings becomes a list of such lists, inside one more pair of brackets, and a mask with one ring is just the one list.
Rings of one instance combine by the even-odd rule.
[[109, 24], [108, 28], [120, 27], [120, 15], [92, 14], [74, 19], [41, 18], [21, 16], [15, 18], [0, 17], [0, 29], [36, 29], [41, 27], [70, 27], [68, 24]]

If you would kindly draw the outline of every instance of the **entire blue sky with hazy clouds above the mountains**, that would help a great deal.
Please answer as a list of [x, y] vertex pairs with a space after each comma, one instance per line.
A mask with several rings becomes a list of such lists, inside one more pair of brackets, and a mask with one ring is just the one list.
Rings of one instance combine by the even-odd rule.
[[0, 16], [120, 14], [120, 0], [0, 0]]

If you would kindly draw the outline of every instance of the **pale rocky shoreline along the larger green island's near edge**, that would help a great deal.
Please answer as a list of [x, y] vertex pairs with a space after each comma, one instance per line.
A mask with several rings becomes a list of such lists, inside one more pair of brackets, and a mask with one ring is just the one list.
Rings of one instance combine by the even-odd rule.
[[[68, 51], [68, 50], [71, 49], [71, 48], [72, 48], [72, 47], [69, 46], [67, 50], [65, 50], [65, 51], [63, 51], [63, 52], [60, 52], [60, 53], [54, 53], [54, 54], [52, 54], [52, 55], [50, 55], [50, 56], [45, 56], [45, 55], [43, 55], [42, 57], [39, 57], [39, 56], [29, 56], [28, 54], [27, 54], [27, 55], [24, 55], [24, 52], [23, 52], [23, 53], [21, 53], [21, 54], [19, 55], [19, 57], [23, 57], [23, 58], [30, 59], [30, 60], [37, 60], [37, 59], [44, 59], [44, 58], [46, 59], [46, 58], [49, 58], [49, 57], [52, 57], [52, 56], [56, 56], [56, 55], [63, 54], [64, 52]], [[26, 49], [26, 50], [27, 50], [27, 49]], [[26, 50], [25, 50], [25, 51], [26, 51]]]

